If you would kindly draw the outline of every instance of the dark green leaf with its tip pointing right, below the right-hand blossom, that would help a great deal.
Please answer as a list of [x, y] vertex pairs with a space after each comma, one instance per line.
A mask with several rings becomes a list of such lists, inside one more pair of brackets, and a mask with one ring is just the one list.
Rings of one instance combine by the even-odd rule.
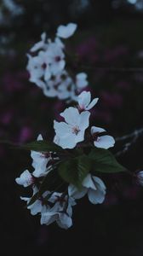
[[89, 153], [89, 159], [92, 160], [93, 172], [115, 173], [126, 171], [126, 168], [121, 166], [107, 149], [92, 149]]

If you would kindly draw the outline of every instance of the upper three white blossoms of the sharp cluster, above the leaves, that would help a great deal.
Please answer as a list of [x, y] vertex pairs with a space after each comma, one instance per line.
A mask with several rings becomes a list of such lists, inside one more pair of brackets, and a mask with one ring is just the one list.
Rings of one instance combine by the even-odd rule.
[[[61, 148], [75, 148], [77, 143], [83, 142], [85, 131], [89, 128], [89, 110], [94, 107], [98, 102], [95, 98], [91, 102], [90, 92], [83, 91], [77, 97], [77, 108], [66, 108], [60, 116], [65, 119], [65, 122], [57, 122], [54, 120], [54, 143], [58, 144]], [[90, 131], [87, 131], [87, 137], [94, 143], [97, 148], [111, 148], [114, 146], [114, 139], [108, 135], [102, 135], [106, 132], [105, 129], [92, 126]], [[101, 136], [100, 136], [101, 135]]]

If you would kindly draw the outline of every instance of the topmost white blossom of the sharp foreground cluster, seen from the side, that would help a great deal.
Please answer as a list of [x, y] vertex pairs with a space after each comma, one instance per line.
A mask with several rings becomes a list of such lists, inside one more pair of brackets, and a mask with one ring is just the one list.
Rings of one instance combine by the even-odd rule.
[[98, 98], [94, 98], [91, 102], [91, 93], [90, 91], [83, 91], [77, 98], [78, 108], [80, 111], [90, 110], [98, 102]]

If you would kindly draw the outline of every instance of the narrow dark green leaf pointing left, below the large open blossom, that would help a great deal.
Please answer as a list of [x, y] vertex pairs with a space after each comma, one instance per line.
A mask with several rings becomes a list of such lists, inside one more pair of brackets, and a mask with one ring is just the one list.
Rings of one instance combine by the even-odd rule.
[[26, 145], [20, 146], [22, 149], [33, 150], [38, 152], [61, 152], [64, 151], [63, 148], [56, 145], [55, 143], [48, 142], [48, 141], [36, 141], [32, 143], [27, 143]]

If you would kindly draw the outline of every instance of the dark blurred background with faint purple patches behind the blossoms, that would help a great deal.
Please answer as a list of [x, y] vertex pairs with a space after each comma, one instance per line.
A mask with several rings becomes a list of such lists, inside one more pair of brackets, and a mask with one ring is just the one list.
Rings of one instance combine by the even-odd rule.
[[[68, 47], [79, 56], [79, 70], [89, 74], [93, 96], [100, 97], [92, 124], [114, 137], [143, 126], [143, 72], [129, 71], [143, 67], [143, 0], [1, 0], [1, 140], [26, 143], [39, 133], [52, 139], [53, 119], [66, 103], [43, 96], [28, 81], [26, 53], [43, 31], [53, 36], [68, 22], [78, 25]], [[143, 168], [142, 144], [140, 137], [118, 158], [131, 172]], [[104, 204], [77, 201], [73, 227], [61, 230], [41, 226], [20, 201], [26, 189], [14, 179], [30, 168], [30, 153], [1, 145], [0, 159], [2, 255], [143, 255], [143, 189], [132, 177], [104, 175]]]

